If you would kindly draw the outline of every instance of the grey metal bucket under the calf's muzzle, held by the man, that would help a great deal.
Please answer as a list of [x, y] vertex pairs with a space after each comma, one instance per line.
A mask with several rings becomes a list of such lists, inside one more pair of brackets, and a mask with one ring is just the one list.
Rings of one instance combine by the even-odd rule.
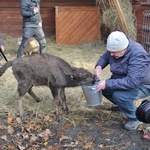
[[97, 106], [100, 105], [102, 102], [102, 91], [95, 93], [94, 89], [97, 85], [93, 86], [83, 86], [83, 94], [86, 98], [86, 102], [88, 106]]

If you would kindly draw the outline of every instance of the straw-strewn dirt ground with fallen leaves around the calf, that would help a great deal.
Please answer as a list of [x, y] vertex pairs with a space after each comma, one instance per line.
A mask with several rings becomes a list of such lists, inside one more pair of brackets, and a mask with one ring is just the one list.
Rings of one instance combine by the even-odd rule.
[[[6, 57], [15, 59], [17, 39], [6, 35], [3, 39]], [[47, 39], [47, 53], [91, 72], [104, 52], [101, 41], [65, 46], [56, 44], [55, 38]], [[2, 60], [1, 65], [4, 63]], [[102, 78], [110, 76], [108, 70], [104, 70]], [[35, 87], [42, 102], [37, 103], [26, 94], [23, 100], [26, 120], [21, 121], [16, 88], [17, 82], [9, 68], [0, 77], [0, 150], [150, 150], [150, 141], [142, 139], [149, 124], [141, 125], [136, 131], [124, 130], [126, 117], [110, 111], [112, 104], [104, 97], [100, 106], [88, 107], [81, 87], [67, 88], [70, 114], [62, 112], [63, 122], [58, 123], [49, 89]]]

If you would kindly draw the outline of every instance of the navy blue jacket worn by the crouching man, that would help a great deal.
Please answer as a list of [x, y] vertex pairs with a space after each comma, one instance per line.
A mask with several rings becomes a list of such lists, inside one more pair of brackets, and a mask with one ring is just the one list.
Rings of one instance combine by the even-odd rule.
[[102, 69], [110, 65], [112, 75], [106, 80], [106, 89], [129, 90], [140, 85], [150, 89], [150, 56], [141, 44], [130, 38], [128, 40], [123, 57], [115, 59], [107, 51], [96, 64]]

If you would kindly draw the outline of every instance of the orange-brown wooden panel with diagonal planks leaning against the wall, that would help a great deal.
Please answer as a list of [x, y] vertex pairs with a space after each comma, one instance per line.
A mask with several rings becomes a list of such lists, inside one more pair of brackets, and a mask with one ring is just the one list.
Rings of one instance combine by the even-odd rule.
[[98, 40], [98, 7], [56, 7], [56, 42], [80, 44]]

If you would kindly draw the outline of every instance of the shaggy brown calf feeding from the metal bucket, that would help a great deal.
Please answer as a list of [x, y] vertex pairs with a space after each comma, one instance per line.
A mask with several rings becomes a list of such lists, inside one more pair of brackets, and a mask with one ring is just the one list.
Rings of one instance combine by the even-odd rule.
[[[94, 83], [94, 75], [84, 68], [71, 66], [65, 60], [50, 54], [33, 54], [6, 62], [0, 68], [0, 76], [12, 66], [13, 74], [18, 81], [17, 99], [20, 117], [24, 118], [22, 97], [29, 93], [37, 102], [41, 100], [32, 91], [33, 86], [48, 86], [56, 103], [57, 120], [61, 121], [60, 109], [63, 106], [66, 114], [66, 87], [86, 86]], [[44, 93], [43, 93], [44, 94]]]

